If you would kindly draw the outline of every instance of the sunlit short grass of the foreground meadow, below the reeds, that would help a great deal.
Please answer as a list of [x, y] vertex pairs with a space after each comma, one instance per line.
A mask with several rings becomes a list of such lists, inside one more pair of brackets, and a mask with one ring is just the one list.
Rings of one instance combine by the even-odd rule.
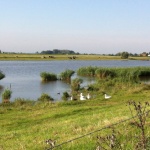
[[[0, 150], [41, 150], [49, 149], [47, 139], [56, 140], [59, 145], [87, 133], [99, 130], [121, 120], [132, 117], [129, 100], [149, 101], [149, 85], [130, 85], [110, 90], [111, 99], [105, 100], [103, 93], [91, 92], [86, 101], [35, 102], [16, 101], [0, 105]], [[82, 91], [85, 94], [85, 91]], [[78, 93], [79, 95], [79, 93]], [[149, 109], [149, 107], [148, 107]], [[133, 115], [136, 114], [133, 109]], [[132, 125], [134, 120], [113, 126], [119, 132], [123, 149], [133, 149], [141, 133]], [[145, 133], [150, 137], [150, 118], [146, 122]], [[111, 134], [107, 128], [83, 138], [65, 143], [54, 149], [94, 150], [97, 136]], [[135, 136], [138, 138], [136, 139]]]

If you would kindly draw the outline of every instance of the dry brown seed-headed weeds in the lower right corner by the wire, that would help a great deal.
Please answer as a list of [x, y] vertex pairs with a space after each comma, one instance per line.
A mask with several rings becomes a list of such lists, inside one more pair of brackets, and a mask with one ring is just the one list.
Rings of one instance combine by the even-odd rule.
[[[150, 110], [148, 110], [149, 103], [145, 102], [142, 105], [140, 102], [136, 103], [134, 101], [129, 101], [129, 109], [131, 112], [131, 119], [130, 125], [135, 126], [137, 130], [139, 130], [140, 135], [132, 136], [132, 138], [137, 138], [133, 143], [132, 149], [135, 150], [148, 150], [150, 149], [150, 137], [146, 134], [146, 121], [149, 117]], [[133, 108], [131, 108], [133, 106]], [[127, 148], [127, 145], [131, 144], [132, 139], [130, 139], [130, 143], [127, 141], [120, 140], [123, 137], [124, 133], [119, 133], [112, 129], [112, 133], [106, 136], [97, 136], [97, 148], [96, 150], [123, 150]], [[129, 135], [127, 135], [129, 136]], [[133, 142], [133, 141], [132, 141]], [[126, 145], [126, 146], [125, 146]]]

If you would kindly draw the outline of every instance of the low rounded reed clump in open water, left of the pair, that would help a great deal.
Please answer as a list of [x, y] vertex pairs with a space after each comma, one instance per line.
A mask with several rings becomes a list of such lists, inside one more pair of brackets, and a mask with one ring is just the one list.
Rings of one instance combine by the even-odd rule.
[[57, 80], [57, 75], [53, 73], [41, 72], [40, 76], [42, 78], [42, 81], [56, 81]]

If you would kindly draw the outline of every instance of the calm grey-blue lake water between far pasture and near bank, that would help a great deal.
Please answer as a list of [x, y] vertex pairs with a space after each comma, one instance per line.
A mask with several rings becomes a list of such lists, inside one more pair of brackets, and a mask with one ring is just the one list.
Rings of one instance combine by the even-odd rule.
[[[70, 85], [62, 81], [42, 83], [40, 73], [46, 71], [60, 74], [66, 69], [76, 71], [82, 66], [150, 66], [150, 61], [0, 61], [0, 70], [6, 75], [4, 79], [0, 80], [0, 101], [3, 90], [10, 87], [13, 92], [11, 100], [19, 97], [36, 100], [42, 93], [47, 93], [55, 100], [60, 100], [63, 92], [70, 92]], [[92, 81], [90, 80], [88, 82]]]

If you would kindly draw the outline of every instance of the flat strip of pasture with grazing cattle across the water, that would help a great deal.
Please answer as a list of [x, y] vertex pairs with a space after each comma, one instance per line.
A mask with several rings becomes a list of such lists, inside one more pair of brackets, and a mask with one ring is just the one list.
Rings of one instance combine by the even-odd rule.
[[[0, 60], [70, 60], [76, 56], [75, 60], [116, 60], [120, 56], [103, 55], [42, 55], [42, 54], [0, 54]], [[129, 57], [131, 60], [149, 60], [149, 57]]]

